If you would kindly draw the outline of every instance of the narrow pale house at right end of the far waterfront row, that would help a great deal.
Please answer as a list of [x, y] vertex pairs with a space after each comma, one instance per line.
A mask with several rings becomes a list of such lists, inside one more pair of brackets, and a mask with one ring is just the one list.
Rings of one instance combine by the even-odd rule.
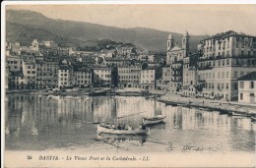
[[140, 88], [156, 88], [156, 70], [155, 68], [148, 68], [142, 70], [140, 73]]

